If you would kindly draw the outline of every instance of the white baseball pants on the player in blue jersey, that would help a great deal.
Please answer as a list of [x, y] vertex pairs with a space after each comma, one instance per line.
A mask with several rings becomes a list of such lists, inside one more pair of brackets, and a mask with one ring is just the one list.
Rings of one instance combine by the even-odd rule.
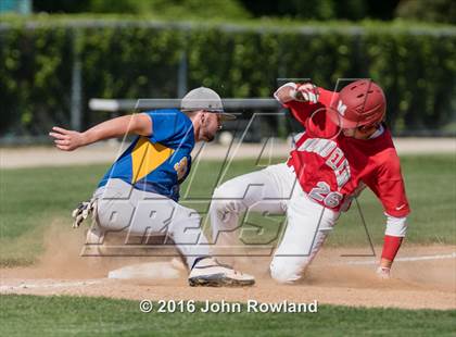
[[96, 190], [97, 224], [102, 230], [125, 230], [127, 235], [163, 234], [173, 239], [189, 269], [195, 259], [210, 255], [201, 216], [192, 209], [157, 194], [138, 190], [113, 178]]

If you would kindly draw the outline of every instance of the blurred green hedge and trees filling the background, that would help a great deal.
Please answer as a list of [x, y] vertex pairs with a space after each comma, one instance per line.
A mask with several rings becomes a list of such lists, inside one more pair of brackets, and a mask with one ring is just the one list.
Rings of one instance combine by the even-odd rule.
[[224, 97], [271, 97], [282, 77], [371, 77], [396, 135], [454, 135], [455, 3], [36, 0], [34, 15], [0, 15], [0, 138], [68, 126], [75, 58], [86, 128], [107, 117], [90, 98], [176, 97], [182, 55], [188, 87]]

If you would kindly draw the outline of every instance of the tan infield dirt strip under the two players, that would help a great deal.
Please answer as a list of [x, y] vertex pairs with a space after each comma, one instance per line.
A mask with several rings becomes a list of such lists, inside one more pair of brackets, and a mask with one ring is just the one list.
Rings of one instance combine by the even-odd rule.
[[[103, 296], [136, 300], [317, 300], [319, 303], [356, 307], [456, 309], [455, 246], [405, 245], [395, 264], [394, 277], [390, 280], [377, 279], [375, 266], [368, 264], [373, 258], [341, 257], [347, 253], [346, 249], [324, 248], [305, 279], [297, 285], [277, 285], [268, 274], [270, 258], [256, 257], [237, 261], [238, 267], [256, 276], [257, 283], [252, 288], [191, 288], [187, 285], [183, 271], [177, 279], [110, 279], [106, 275], [113, 269], [145, 261], [170, 261], [172, 258], [83, 258], [79, 257], [84, 240], [81, 232], [66, 228], [52, 230], [47, 237], [52, 237], [55, 244], [47, 244], [46, 253], [35, 266], [0, 271], [0, 294]], [[356, 249], [351, 248], [350, 253], [354, 252]]]

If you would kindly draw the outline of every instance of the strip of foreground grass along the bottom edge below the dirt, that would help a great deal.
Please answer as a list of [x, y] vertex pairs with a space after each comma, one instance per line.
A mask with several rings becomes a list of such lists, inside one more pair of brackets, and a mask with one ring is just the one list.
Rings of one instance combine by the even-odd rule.
[[[456, 311], [319, 305], [317, 313], [141, 313], [139, 301], [8, 295], [2, 336], [454, 336]], [[155, 305], [156, 307], [156, 305]]]

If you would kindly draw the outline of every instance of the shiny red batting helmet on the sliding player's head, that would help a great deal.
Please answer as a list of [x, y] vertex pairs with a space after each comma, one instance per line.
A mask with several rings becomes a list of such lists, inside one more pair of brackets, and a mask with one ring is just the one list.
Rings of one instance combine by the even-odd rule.
[[340, 127], [354, 128], [381, 122], [385, 111], [387, 100], [380, 86], [370, 79], [358, 79], [339, 92], [328, 113]]

